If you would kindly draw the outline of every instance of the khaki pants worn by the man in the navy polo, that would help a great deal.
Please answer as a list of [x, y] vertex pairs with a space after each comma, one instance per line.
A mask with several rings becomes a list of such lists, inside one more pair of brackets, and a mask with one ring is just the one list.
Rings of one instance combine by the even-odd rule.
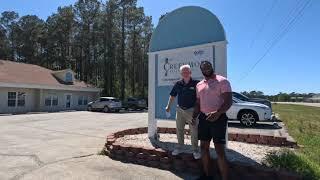
[[[193, 108], [183, 110], [180, 107], [177, 107], [176, 130], [177, 130], [178, 144], [180, 146], [184, 145], [184, 127], [186, 122], [188, 123], [191, 122], [192, 114], [193, 114]], [[198, 123], [196, 122], [195, 125], [191, 125], [189, 123], [189, 129], [191, 132], [192, 150], [198, 151]]]

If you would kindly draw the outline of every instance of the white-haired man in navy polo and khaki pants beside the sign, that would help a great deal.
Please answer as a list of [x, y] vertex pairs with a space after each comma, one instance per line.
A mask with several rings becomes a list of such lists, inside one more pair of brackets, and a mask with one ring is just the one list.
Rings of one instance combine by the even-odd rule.
[[172, 155], [176, 156], [182, 152], [182, 146], [184, 145], [184, 127], [185, 124], [189, 124], [189, 129], [191, 131], [191, 144], [193, 150], [193, 157], [195, 159], [200, 159], [201, 155], [199, 153], [198, 147], [198, 124], [192, 124], [192, 114], [194, 110], [194, 105], [196, 102], [196, 86], [199, 81], [193, 80], [191, 78], [191, 68], [189, 65], [183, 65], [180, 67], [180, 73], [182, 79], [176, 82], [173, 86], [166, 111], [170, 112], [170, 107], [178, 96], [178, 106], [176, 114], [176, 130], [178, 145], [172, 152]]

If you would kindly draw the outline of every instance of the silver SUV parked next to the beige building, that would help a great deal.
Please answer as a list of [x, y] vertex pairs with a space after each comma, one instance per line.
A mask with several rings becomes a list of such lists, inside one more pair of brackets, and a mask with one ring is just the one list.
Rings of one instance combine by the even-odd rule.
[[100, 97], [98, 100], [88, 104], [88, 111], [103, 111], [103, 112], [119, 112], [122, 108], [122, 103], [114, 97]]

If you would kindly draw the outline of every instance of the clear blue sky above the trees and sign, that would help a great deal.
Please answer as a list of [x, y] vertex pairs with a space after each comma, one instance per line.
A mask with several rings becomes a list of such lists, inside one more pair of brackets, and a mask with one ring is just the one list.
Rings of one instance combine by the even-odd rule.
[[[272, 4], [274, 8], [270, 11]], [[138, 0], [157, 25], [161, 14], [178, 7], [197, 5], [213, 12], [223, 24], [228, 39], [228, 78], [236, 91], [320, 93], [320, 1], [311, 0], [303, 16], [263, 56], [268, 42], [283, 30], [281, 26], [298, 14], [293, 11], [307, 0]], [[75, 0], [0, 0], [0, 12], [14, 10], [46, 19], [58, 6]], [[298, 4], [301, 3], [301, 4]], [[267, 16], [268, 12], [269, 16]], [[295, 12], [290, 15], [290, 12]], [[267, 17], [267, 18], [266, 18]], [[263, 28], [261, 28], [263, 26]], [[245, 78], [243, 78], [245, 77]]]

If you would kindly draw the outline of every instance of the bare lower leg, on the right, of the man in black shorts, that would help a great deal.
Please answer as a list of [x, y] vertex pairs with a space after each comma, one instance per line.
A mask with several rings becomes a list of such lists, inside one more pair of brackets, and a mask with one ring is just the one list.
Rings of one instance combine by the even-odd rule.
[[223, 180], [228, 179], [228, 163], [225, 155], [225, 145], [214, 143], [214, 148], [218, 157], [218, 166]]

